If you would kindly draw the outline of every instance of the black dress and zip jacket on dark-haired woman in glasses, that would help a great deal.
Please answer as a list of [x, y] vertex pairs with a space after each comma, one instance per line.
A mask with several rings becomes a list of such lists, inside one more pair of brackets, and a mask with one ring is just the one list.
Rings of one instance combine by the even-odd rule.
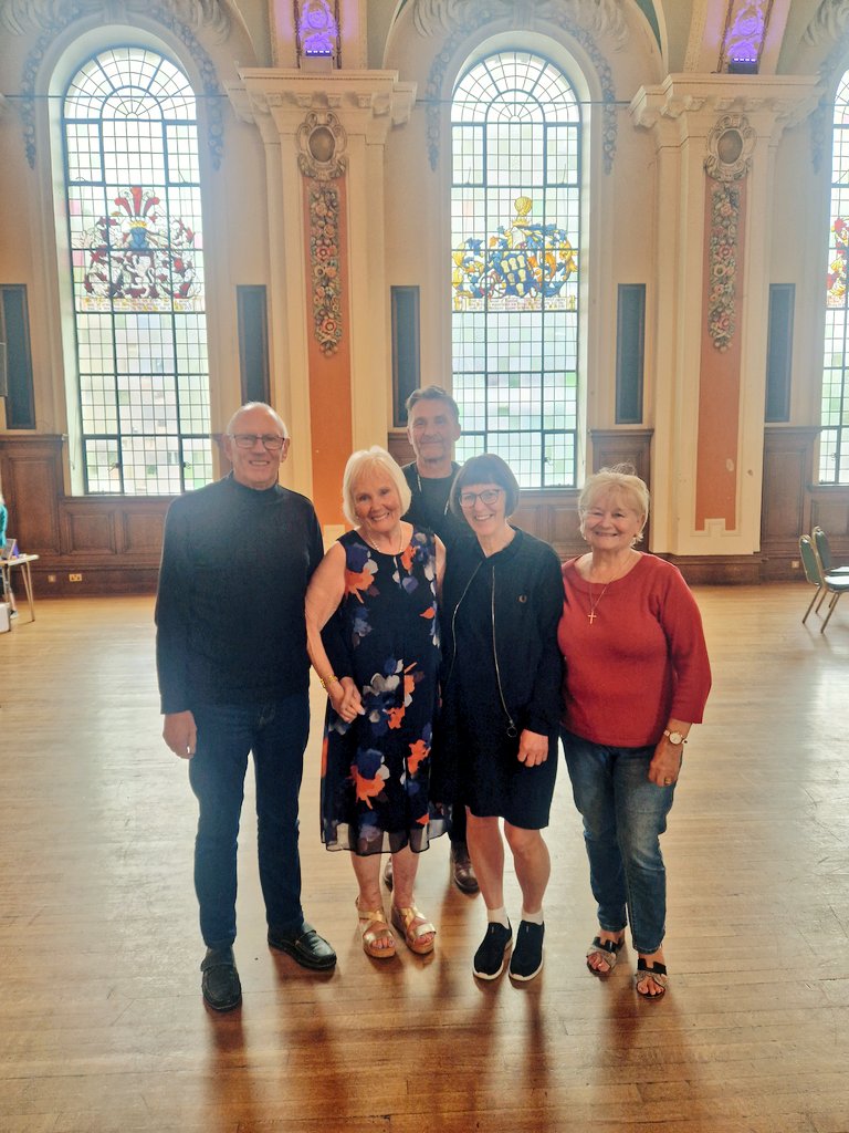
[[[448, 556], [443, 586], [443, 713], [439, 765], [446, 796], [479, 817], [548, 825], [557, 775], [563, 657], [560, 563], [552, 548], [516, 530], [489, 559], [477, 539]], [[549, 739], [546, 763], [525, 767], [518, 738]]]

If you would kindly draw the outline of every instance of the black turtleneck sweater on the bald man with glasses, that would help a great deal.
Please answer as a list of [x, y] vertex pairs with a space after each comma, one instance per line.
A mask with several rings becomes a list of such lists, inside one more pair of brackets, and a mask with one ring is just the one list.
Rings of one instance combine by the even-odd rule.
[[174, 500], [156, 596], [162, 712], [306, 692], [303, 599], [323, 553], [312, 504], [277, 484], [231, 474]]

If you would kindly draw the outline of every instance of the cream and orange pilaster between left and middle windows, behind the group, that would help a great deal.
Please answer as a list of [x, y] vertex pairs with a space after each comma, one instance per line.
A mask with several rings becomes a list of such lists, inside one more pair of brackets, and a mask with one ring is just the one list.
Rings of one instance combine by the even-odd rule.
[[395, 71], [250, 69], [228, 94], [265, 145], [275, 403], [293, 438], [310, 438], [292, 446], [295, 483], [311, 485], [332, 527], [348, 455], [386, 443], [384, 156], [415, 84]]

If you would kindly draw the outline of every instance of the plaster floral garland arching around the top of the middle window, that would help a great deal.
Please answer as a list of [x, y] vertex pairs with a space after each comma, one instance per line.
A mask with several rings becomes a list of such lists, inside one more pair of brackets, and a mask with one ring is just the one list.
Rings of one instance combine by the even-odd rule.
[[[602, 2], [604, 0], [599, 0], [599, 3]], [[540, 0], [539, 3], [532, 3], [530, 0], [516, 0], [516, 2], [513, 2], [513, 0], [415, 0], [415, 5], [417, 9], [419, 5], [424, 7], [430, 6], [435, 12], [439, 14], [439, 24], [441, 25], [444, 17], [451, 28], [448, 39], [443, 44], [441, 51], [436, 54], [431, 63], [428, 74], [428, 85], [424, 92], [424, 101], [428, 108], [428, 156], [431, 169], [436, 169], [439, 161], [439, 119], [443, 100], [446, 97], [445, 75], [448, 63], [461, 50], [463, 41], [470, 33], [477, 32], [487, 24], [491, 24], [492, 20], [505, 17], [512, 17], [514, 23], [516, 23], [517, 16], [521, 12], [523, 14], [522, 26], [532, 26], [537, 20], [543, 26], [556, 24], [576, 40], [590, 58], [601, 84], [603, 116], [601, 144], [604, 172], [610, 172], [614, 168], [617, 135], [616, 91], [614, 88], [612, 73], [610, 65], [599, 50], [592, 34], [585, 27], [576, 24], [571, 16], [572, 9], [576, 6], [582, 9], [586, 6], [595, 9], [595, 0], [585, 0], [585, 2], [577, 5], [572, 2], [552, 2], [552, 0]], [[436, 25], [428, 23], [427, 26], [435, 27]]]

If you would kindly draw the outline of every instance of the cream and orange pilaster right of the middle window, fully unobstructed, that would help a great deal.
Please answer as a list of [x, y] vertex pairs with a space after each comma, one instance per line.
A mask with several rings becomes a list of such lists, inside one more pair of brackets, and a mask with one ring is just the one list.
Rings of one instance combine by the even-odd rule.
[[813, 77], [671, 75], [631, 103], [651, 131], [657, 241], [652, 550], [760, 550], [777, 146]]

